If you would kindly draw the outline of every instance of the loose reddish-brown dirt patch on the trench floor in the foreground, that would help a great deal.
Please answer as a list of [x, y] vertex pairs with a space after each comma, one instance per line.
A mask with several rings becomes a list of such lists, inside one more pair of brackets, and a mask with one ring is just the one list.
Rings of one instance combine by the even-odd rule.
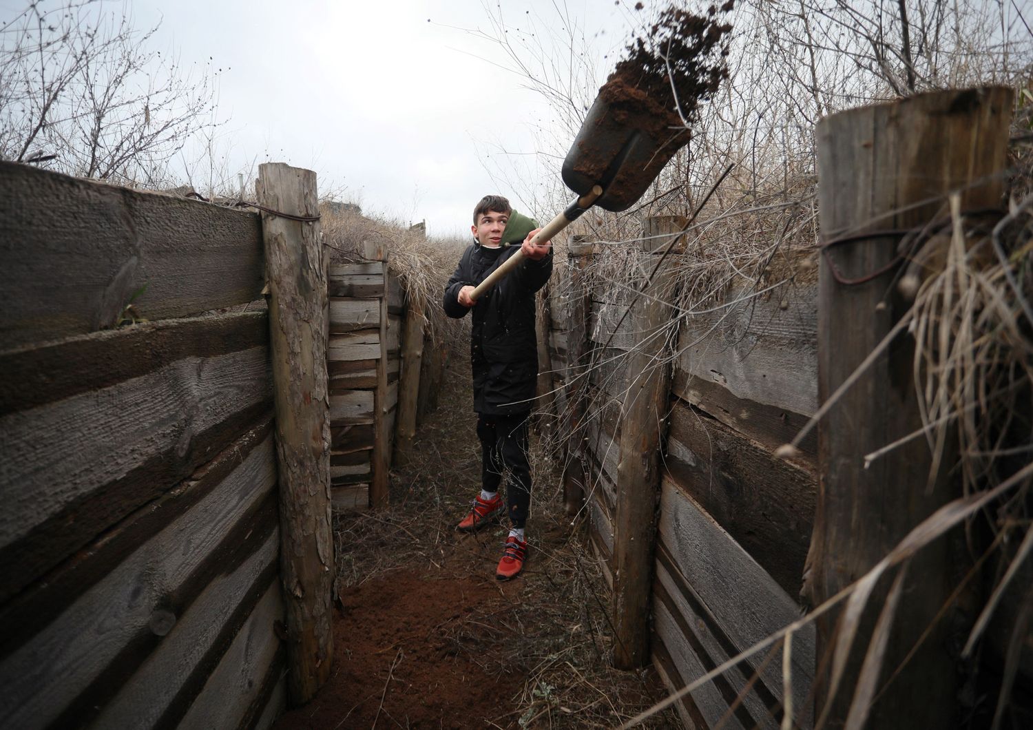
[[[475, 661], [457, 628], [500, 602], [489, 580], [395, 570], [341, 592], [334, 672], [277, 730], [482, 728], [513, 711], [513, 685]], [[523, 683], [523, 677], [519, 684]]]

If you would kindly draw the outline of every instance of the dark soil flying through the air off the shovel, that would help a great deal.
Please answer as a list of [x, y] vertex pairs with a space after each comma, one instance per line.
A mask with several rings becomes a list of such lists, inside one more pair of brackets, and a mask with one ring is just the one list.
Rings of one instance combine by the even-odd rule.
[[[660, 12], [644, 36], [626, 47], [627, 58], [599, 90], [599, 95], [628, 124], [656, 130], [691, 122], [700, 102], [728, 77], [731, 24], [722, 22], [732, 1], [711, 5], [697, 15], [671, 5]], [[618, 120], [621, 121], [621, 120]]]

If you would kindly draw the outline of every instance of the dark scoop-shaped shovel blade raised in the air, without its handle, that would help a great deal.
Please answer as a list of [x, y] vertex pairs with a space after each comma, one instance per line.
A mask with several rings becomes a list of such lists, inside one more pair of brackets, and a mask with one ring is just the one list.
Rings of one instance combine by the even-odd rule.
[[636, 124], [633, 114], [597, 97], [563, 160], [563, 183], [578, 195], [600, 185], [596, 205], [614, 213], [627, 210], [689, 141], [684, 127], [660, 130], [662, 138], [656, 129]]

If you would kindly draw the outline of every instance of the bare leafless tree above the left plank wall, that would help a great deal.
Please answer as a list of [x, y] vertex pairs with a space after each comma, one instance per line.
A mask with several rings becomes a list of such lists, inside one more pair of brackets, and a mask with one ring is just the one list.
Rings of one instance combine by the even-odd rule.
[[149, 50], [156, 31], [93, 0], [37, 0], [0, 26], [0, 158], [165, 184], [184, 144], [219, 125], [219, 71]]

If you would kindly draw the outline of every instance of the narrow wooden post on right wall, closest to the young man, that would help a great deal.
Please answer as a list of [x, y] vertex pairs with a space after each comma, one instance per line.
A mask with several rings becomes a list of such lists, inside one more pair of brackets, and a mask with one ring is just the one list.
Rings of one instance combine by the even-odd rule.
[[593, 245], [588, 236], [571, 235], [567, 244], [568, 328], [567, 328], [567, 408], [561, 433], [567, 434], [563, 457], [563, 505], [567, 514], [577, 514], [585, 503], [588, 469], [585, 463], [585, 400], [591, 351], [588, 320], [592, 312], [592, 291], [588, 286], [587, 268], [592, 263]]

